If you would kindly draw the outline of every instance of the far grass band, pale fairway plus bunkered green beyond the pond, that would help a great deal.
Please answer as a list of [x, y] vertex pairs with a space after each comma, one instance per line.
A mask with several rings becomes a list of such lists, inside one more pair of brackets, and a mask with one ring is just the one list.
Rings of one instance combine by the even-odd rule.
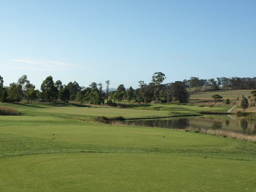
[[[226, 113], [232, 106], [223, 105], [216, 107], [203, 107], [197, 105], [179, 105], [179, 104], [142, 104], [132, 105], [130, 109], [119, 109], [109, 107], [76, 107], [71, 104], [7, 104], [7, 106], [18, 109], [23, 116], [55, 116], [55, 117], [84, 117], [95, 116], [123, 116], [126, 119], [131, 118], [161, 118], [171, 116], [191, 116], [199, 115], [200, 112], [218, 112]], [[29, 106], [29, 107], [28, 107]], [[135, 106], [135, 107], [134, 107]]]

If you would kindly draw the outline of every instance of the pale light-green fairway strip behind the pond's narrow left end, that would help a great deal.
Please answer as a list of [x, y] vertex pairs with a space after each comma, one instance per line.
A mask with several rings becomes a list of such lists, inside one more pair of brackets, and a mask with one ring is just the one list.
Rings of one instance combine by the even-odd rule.
[[2, 104], [18, 109], [22, 116], [95, 117], [123, 116], [124, 118], [152, 118], [168, 116], [169, 111], [118, 109], [103, 106], [74, 106], [71, 104]]

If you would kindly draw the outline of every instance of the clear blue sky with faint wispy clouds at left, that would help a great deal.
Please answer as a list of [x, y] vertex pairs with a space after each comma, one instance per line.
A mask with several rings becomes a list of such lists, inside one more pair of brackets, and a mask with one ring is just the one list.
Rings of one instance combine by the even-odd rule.
[[256, 76], [256, 0], [2, 0], [0, 76], [138, 87]]

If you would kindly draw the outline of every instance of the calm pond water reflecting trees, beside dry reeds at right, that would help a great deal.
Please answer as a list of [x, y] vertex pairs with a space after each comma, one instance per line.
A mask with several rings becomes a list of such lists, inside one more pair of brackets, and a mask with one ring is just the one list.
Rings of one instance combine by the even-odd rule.
[[127, 120], [127, 125], [161, 127], [167, 129], [222, 129], [244, 134], [256, 134], [256, 123], [231, 115], [203, 115], [196, 117]]

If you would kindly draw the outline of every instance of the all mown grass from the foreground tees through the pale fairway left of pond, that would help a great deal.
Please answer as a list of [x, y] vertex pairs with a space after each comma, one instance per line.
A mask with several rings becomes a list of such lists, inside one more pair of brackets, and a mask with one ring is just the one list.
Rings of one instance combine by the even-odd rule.
[[89, 121], [168, 110], [4, 105], [21, 116], [0, 116], [0, 191], [256, 191], [256, 144]]

